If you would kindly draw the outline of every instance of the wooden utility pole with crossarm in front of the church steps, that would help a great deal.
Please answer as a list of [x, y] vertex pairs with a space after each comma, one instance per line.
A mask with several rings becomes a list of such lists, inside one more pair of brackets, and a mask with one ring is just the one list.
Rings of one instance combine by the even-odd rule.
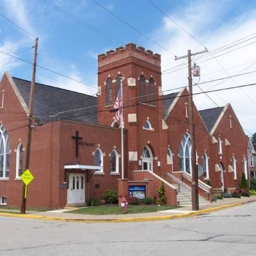
[[195, 52], [191, 54], [191, 51], [188, 50], [188, 55], [175, 57], [174, 60], [180, 60], [183, 58], [188, 58], [188, 92], [189, 92], [189, 124], [190, 124], [190, 139], [191, 139], [191, 164], [192, 164], [192, 210], [197, 211], [199, 210], [199, 200], [198, 200], [198, 170], [196, 165], [196, 136], [195, 136], [195, 125], [194, 125], [194, 114], [193, 114], [193, 87], [192, 87], [192, 66], [191, 66], [191, 56], [208, 52], [205, 49], [202, 52]]

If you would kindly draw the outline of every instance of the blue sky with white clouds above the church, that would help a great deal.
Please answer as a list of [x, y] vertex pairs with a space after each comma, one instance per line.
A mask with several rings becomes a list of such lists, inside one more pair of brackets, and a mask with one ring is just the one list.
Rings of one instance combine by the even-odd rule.
[[[39, 38], [37, 64], [40, 66], [97, 87], [97, 54], [115, 49], [121, 44], [134, 42], [146, 49], [160, 53], [162, 56], [162, 70], [181, 63], [180, 61], [174, 61], [169, 52], [164, 51], [152, 41], [117, 20], [92, 0], [47, 1], [100, 29], [108, 36], [100, 36], [76, 23], [49, 7], [44, 0], [1, 0], [0, 12]], [[191, 49], [192, 52], [204, 50], [201, 44], [184, 33], [171, 20], [164, 17], [147, 0], [97, 1], [177, 56], [186, 54], [188, 49]], [[256, 33], [255, 1], [152, 0], [152, 2], [189, 31], [197, 40], [206, 45], [210, 51]], [[108, 40], [105, 37], [111, 37], [111, 39]], [[20, 53], [32, 47], [33, 40], [33, 36], [26, 34], [0, 16], [0, 44], [5, 47], [0, 45], [0, 51], [10, 54], [13, 54], [11, 51]], [[256, 41], [256, 38], [230, 50], [254, 41]], [[237, 74], [244, 68], [249, 67], [250, 64], [238, 68], [229, 68], [253, 61], [256, 62], [255, 45], [251, 44], [216, 59], [224, 68], [228, 68], [229, 75]], [[33, 49], [31, 48], [21, 55], [32, 61]], [[0, 54], [1, 76], [4, 71], [9, 71], [12, 76], [30, 80], [31, 65], [14, 58], [5, 61], [8, 58], [8, 56]], [[200, 64], [202, 81], [228, 76], [224, 71], [206, 75], [221, 70], [219, 63], [213, 59]], [[256, 70], [256, 65], [244, 72], [253, 70]], [[88, 94], [96, 92], [93, 88], [40, 68], [37, 68], [36, 81]], [[252, 73], [248, 76], [234, 78], [234, 80], [228, 79], [215, 88], [249, 84], [254, 81], [255, 74]], [[171, 74], [163, 74], [162, 83], [164, 90], [186, 85], [187, 70], [183, 69]], [[206, 90], [215, 84], [206, 84], [202, 87]], [[256, 113], [253, 111], [256, 100], [253, 102], [252, 98], [253, 95], [256, 95], [256, 89], [254, 88], [246, 87], [243, 89], [244, 92], [236, 89], [210, 94], [219, 106], [224, 106], [226, 102], [230, 102], [235, 111], [237, 110], [236, 113], [242, 125], [252, 133], [256, 131], [254, 122]], [[196, 87], [195, 92], [199, 92]], [[251, 99], [248, 96], [252, 96]], [[198, 109], [216, 107], [205, 95], [197, 96], [195, 101]]]

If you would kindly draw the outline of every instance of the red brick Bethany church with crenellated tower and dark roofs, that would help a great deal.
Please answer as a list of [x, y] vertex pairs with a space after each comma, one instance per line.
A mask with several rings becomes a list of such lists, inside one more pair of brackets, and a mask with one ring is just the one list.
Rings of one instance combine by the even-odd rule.
[[[109, 111], [121, 79], [124, 179], [121, 129]], [[0, 205], [21, 204], [30, 84], [7, 72], [0, 83]], [[98, 56], [97, 97], [36, 83], [29, 164], [35, 179], [27, 206], [85, 205], [107, 189], [156, 201], [162, 181], [168, 204], [191, 204], [187, 95], [186, 88], [163, 95], [161, 56], [132, 43]], [[249, 177], [248, 137], [230, 104], [201, 111], [193, 105], [193, 111], [199, 202], [205, 204], [212, 193], [238, 187], [243, 172]]]

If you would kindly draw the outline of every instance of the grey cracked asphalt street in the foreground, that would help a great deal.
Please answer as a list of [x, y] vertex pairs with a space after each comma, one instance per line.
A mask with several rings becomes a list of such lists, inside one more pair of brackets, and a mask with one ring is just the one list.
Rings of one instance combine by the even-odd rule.
[[185, 219], [68, 223], [0, 216], [0, 255], [256, 255], [256, 202]]

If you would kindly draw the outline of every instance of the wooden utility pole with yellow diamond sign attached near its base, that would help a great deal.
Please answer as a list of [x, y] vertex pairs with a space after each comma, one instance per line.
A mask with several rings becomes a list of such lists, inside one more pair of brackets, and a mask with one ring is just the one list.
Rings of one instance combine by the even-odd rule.
[[[32, 79], [30, 87], [30, 97], [29, 97], [29, 110], [28, 110], [28, 134], [26, 141], [26, 162], [25, 170], [29, 169], [29, 157], [30, 157], [30, 145], [31, 145], [31, 133], [32, 133], [32, 117], [33, 117], [33, 103], [34, 103], [34, 91], [35, 91], [35, 80], [36, 80], [36, 57], [37, 57], [37, 44], [38, 38], [35, 39], [34, 44], [34, 58], [33, 58], [33, 67], [32, 67]], [[20, 213], [26, 213], [26, 198], [25, 198], [25, 184], [23, 183], [22, 189], [22, 199]]]

